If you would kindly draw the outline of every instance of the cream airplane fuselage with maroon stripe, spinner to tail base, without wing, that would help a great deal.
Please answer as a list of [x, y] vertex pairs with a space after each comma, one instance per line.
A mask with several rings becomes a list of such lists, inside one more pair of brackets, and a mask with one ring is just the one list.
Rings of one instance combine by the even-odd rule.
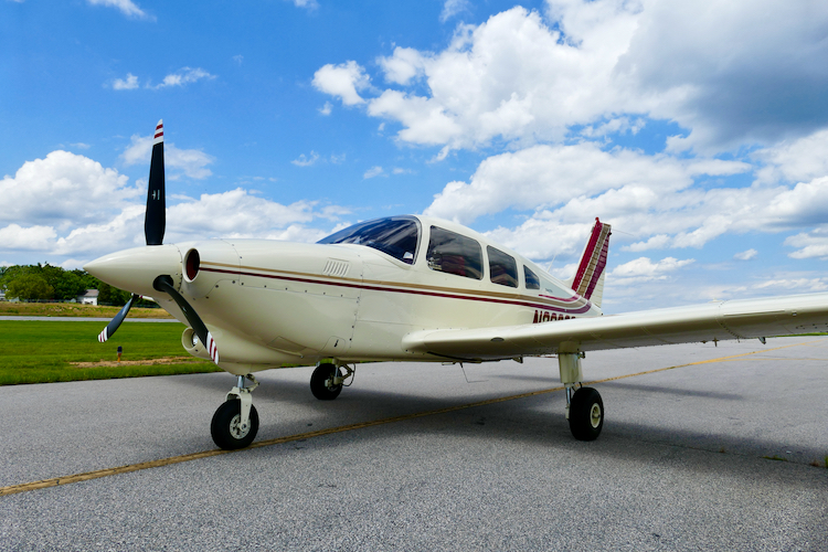
[[[339, 243], [208, 240], [139, 247], [86, 268], [153, 296], [187, 323], [176, 302], [152, 290], [150, 276], [170, 274], [219, 343], [221, 368], [233, 373], [321, 359], [445, 361], [452, 359], [406, 351], [403, 338], [425, 329], [601, 315], [534, 263], [467, 227], [401, 216], [353, 229], [326, 238]], [[192, 330], [182, 344], [206, 358]]]

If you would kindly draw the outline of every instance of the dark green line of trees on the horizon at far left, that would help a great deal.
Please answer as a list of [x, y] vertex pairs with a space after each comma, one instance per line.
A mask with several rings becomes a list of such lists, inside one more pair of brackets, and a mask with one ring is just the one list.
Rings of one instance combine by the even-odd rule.
[[[98, 290], [98, 305], [121, 306], [131, 297], [109, 284], [100, 282], [86, 270], [65, 270], [49, 263], [36, 265], [0, 266], [0, 290], [6, 290], [7, 299], [21, 301], [54, 300], [68, 301], [87, 289]], [[156, 306], [152, 301], [139, 301], [141, 306]]]

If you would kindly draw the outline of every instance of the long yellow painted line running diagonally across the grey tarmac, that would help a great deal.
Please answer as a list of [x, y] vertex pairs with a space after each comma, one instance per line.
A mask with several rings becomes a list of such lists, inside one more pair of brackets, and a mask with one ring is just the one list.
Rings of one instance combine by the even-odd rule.
[[[636, 378], [638, 375], [647, 375], [647, 374], [654, 374], [658, 372], [666, 372], [667, 370], [675, 370], [677, 368], [686, 368], [686, 367], [696, 367], [700, 364], [711, 364], [714, 362], [729, 362], [736, 359], [743, 359], [744, 357], [750, 357], [753, 354], [762, 354], [771, 351], [778, 351], [781, 349], [788, 349], [792, 347], [799, 347], [808, 343], [794, 343], [783, 347], [776, 347], [774, 349], [764, 349], [760, 351], [752, 351], [752, 352], [745, 352], [741, 354], [732, 354], [730, 357], [721, 357], [718, 359], [710, 359], [710, 360], [700, 360], [697, 362], [688, 362], [687, 364], [677, 364], [675, 367], [667, 367], [667, 368], [657, 368], [655, 370], [647, 370], [645, 372], [637, 372], [634, 374], [625, 374], [625, 375], [616, 375], [614, 378], [605, 378], [603, 380], [594, 380], [591, 382], [586, 382], [586, 384], [594, 384], [594, 383], [605, 383], [609, 381], [616, 381], [616, 380], [624, 380], [626, 378]], [[105, 469], [97, 469], [94, 471], [86, 471], [83, 474], [75, 474], [71, 476], [65, 477], [55, 477], [52, 479], [42, 479], [40, 481], [32, 481], [26, 484], [20, 484], [20, 485], [9, 485], [8, 487], [0, 487], [0, 497], [4, 497], [7, 495], [15, 495], [18, 492], [28, 492], [31, 490], [36, 489], [44, 489], [46, 487], [57, 487], [59, 485], [68, 485], [73, 482], [79, 482], [79, 481], [88, 481], [91, 479], [99, 479], [102, 477], [109, 477], [115, 476], [118, 474], [129, 474], [131, 471], [140, 471], [144, 469], [149, 468], [159, 468], [162, 466], [170, 466], [173, 464], [181, 464], [184, 461], [191, 461], [191, 460], [199, 460], [201, 458], [210, 458], [211, 456], [220, 456], [224, 454], [233, 454], [233, 453], [241, 453], [244, 450], [248, 450], [251, 448], [261, 448], [261, 447], [267, 447], [273, 445], [280, 445], [284, 443], [290, 443], [295, 440], [305, 440], [310, 439], [314, 437], [322, 437], [325, 435], [332, 435], [336, 433], [343, 433], [343, 432], [350, 432], [354, 429], [363, 429], [365, 427], [374, 427], [378, 425], [385, 425], [385, 424], [393, 424], [396, 422], [405, 422], [407, 420], [415, 420], [418, 417], [425, 417], [425, 416], [434, 416], [437, 414], [446, 414], [448, 412], [456, 412], [461, 411], [466, 408], [474, 408], [476, 406], [485, 406], [488, 404], [496, 404], [496, 403], [502, 403], [506, 401], [514, 401], [518, 399], [527, 399], [529, 396], [535, 396], [535, 395], [542, 395], [545, 393], [552, 393], [555, 391], [562, 391], [564, 388], [558, 386], [558, 388], [551, 388], [551, 389], [543, 389], [540, 391], [530, 391], [528, 393], [520, 393], [518, 395], [509, 395], [509, 396], [499, 396], [496, 399], [487, 399], [485, 401], [478, 401], [474, 403], [466, 403], [466, 404], [458, 404], [456, 406], [447, 406], [445, 408], [437, 408], [433, 411], [426, 411], [426, 412], [415, 412], [413, 414], [403, 414], [401, 416], [393, 416], [393, 417], [386, 417], [382, 420], [373, 420], [369, 422], [359, 422], [357, 424], [349, 424], [349, 425], [340, 425], [337, 427], [329, 427], [327, 429], [318, 429], [315, 432], [307, 432], [307, 433], [298, 433], [295, 435], [287, 435], [285, 437], [276, 437], [273, 439], [266, 439], [266, 440], [258, 440], [253, 443], [250, 447], [243, 448], [241, 450], [221, 450], [221, 449], [213, 449], [213, 450], [203, 450], [201, 453], [192, 453], [192, 454], [184, 454], [181, 456], [172, 456], [170, 458], [161, 458], [158, 460], [150, 460], [150, 461], [141, 461], [138, 464], [129, 464], [127, 466], [119, 466], [116, 468], [105, 468]]]

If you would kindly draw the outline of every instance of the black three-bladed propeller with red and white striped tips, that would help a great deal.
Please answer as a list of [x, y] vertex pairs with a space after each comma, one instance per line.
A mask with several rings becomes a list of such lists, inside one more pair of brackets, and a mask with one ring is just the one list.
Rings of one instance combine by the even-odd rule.
[[[147, 240], [148, 246], [162, 245], [163, 233], [167, 226], [167, 203], [164, 192], [164, 169], [163, 169], [163, 119], [158, 121], [156, 125], [156, 132], [152, 138], [152, 160], [149, 164], [149, 185], [147, 190], [147, 212], [144, 219], [144, 236]], [[195, 332], [199, 340], [206, 347], [210, 353], [210, 359], [219, 363], [219, 349], [215, 344], [212, 333], [206, 329], [201, 317], [195, 312], [195, 309], [187, 302], [187, 299], [178, 293], [172, 280], [172, 276], [162, 274], [158, 276], [152, 283], [152, 287], [159, 291], [162, 291], [176, 301], [178, 307], [183, 312], [190, 327]], [[115, 331], [120, 327], [120, 323], [127, 317], [129, 309], [132, 307], [132, 302], [140, 296], [132, 294], [124, 308], [115, 315], [115, 318], [104, 328], [104, 331], [98, 336], [98, 341], [102, 343], [113, 337]]]

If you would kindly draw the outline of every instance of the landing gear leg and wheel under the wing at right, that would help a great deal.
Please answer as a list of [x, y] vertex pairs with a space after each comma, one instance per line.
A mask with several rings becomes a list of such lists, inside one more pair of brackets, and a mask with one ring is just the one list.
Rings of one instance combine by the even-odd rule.
[[[582, 358], [581, 352], [558, 353], [561, 383], [566, 388], [566, 420], [573, 437], [578, 440], [595, 440], [604, 427], [604, 402], [596, 390], [581, 384], [584, 380]], [[575, 385], [578, 388], [575, 389]]]

